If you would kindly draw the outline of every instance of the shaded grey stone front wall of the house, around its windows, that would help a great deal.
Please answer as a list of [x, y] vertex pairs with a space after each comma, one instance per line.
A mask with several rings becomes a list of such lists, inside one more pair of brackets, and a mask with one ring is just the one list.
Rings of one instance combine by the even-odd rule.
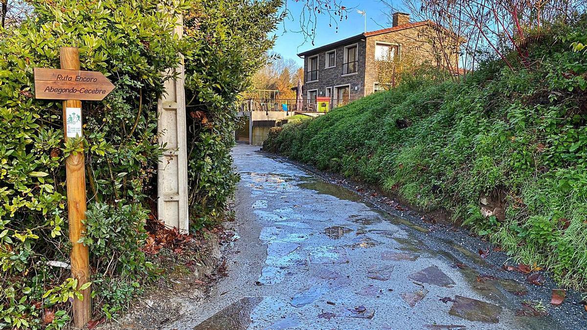
[[[346, 46], [357, 44], [357, 73], [354, 75], [343, 75], [343, 63], [344, 63], [344, 49]], [[334, 49], [334, 48], [333, 48]], [[345, 45], [336, 46], [336, 66], [333, 68], [326, 69], [326, 52], [332, 49], [325, 49], [318, 52], [318, 81], [317, 82], [304, 82], [303, 85], [303, 98], [308, 98], [308, 90], [318, 89], [318, 96], [326, 95], [326, 88], [332, 88], [333, 97], [335, 86], [350, 85], [350, 99], [358, 99], [365, 96], [365, 51], [366, 51], [366, 40], [365, 38], [357, 41], [346, 43]], [[308, 63], [309, 58], [315, 56], [306, 55], [304, 57], [304, 80], [308, 79]], [[356, 90], [355, 90], [356, 88]]]

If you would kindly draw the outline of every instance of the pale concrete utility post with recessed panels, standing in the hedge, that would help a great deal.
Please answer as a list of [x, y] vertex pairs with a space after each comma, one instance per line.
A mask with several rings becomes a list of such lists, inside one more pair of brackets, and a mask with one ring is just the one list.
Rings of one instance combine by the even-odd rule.
[[[183, 18], [178, 17], [174, 33], [183, 35]], [[159, 143], [167, 144], [159, 160], [157, 175], [158, 218], [169, 227], [177, 227], [187, 233], [188, 185], [187, 185], [187, 141], [185, 123], [184, 65], [182, 63], [167, 73], [179, 73], [177, 79], [165, 82], [165, 93], [157, 105], [160, 133]]]

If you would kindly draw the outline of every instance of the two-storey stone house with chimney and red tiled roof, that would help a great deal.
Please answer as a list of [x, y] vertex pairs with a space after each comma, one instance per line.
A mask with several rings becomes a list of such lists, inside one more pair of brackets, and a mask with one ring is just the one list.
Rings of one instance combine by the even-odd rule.
[[460, 71], [458, 41], [452, 42], [454, 47], [444, 45], [458, 38], [442, 38], [450, 36], [446, 29], [430, 21], [410, 22], [410, 15], [401, 12], [393, 14], [392, 25], [299, 53], [304, 59], [302, 98], [315, 103], [316, 97], [330, 97], [337, 106], [386, 89], [390, 84], [378, 81], [377, 65], [398, 56]]

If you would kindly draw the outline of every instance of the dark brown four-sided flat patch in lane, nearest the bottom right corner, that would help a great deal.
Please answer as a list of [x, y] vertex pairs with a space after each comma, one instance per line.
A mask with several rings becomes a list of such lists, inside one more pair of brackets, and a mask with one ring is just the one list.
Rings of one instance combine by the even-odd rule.
[[448, 314], [469, 321], [485, 323], [500, 322], [501, 307], [488, 302], [457, 295]]

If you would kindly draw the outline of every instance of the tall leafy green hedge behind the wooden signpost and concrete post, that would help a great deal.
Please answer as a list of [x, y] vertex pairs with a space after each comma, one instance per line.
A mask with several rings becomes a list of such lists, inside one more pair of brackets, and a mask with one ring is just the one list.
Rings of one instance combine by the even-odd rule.
[[[161, 275], [145, 244], [161, 154], [157, 99], [183, 53], [190, 120], [190, 206], [197, 225], [226, 211], [238, 93], [265, 60], [279, 1], [193, 0], [185, 36], [153, 0], [31, 1], [31, 18], [0, 30], [0, 328], [62, 328], [76, 284], [70, 271], [65, 156], [86, 146], [87, 235], [95, 318], [112, 317]], [[171, 4], [171, 3], [170, 3]], [[262, 15], [261, 15], [262, 14]], [[260, 19], [252, 21], [251, 16]], [[61, 46], [116, 89], [83, 105], [85, 140], [63, 145], [60, 102], [33, 98], [33, 68], [59, 68]], [[194, 112], [207, 117], [195, 122]], [[195, 124], [194, 124], [195, 122]], [[211, 166], [217, 164], [218, 166]]]

